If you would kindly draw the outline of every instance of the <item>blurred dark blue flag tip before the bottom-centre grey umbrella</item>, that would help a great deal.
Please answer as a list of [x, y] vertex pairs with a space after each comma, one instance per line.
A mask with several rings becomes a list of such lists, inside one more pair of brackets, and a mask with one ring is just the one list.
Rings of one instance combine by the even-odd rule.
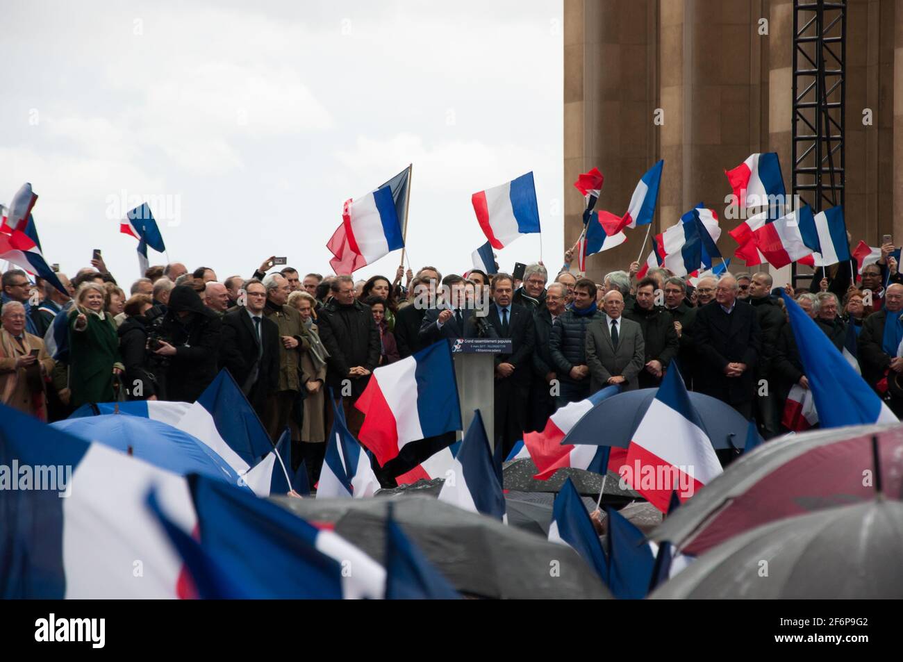
[[392, 517], [386, 518], [386, 600], [459, 600], [461, 594], [417, 549]]

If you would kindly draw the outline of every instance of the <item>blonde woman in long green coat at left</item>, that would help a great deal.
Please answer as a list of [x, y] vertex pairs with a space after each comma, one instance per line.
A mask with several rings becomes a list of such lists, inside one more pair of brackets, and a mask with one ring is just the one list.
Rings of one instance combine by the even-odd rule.
[[103, 285], [82, 283], [69, 312], [69, 387], [74, 407], [116, 399], [113, 381], [122, 374], [123, 365], [116, 325], [104, 310], [106, 299]]

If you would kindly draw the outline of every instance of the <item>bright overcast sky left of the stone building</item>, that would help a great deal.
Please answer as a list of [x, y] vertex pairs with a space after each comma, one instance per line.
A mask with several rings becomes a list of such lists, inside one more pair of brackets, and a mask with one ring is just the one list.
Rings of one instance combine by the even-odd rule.
[[[4, 24], [0, 202], [32, 182], [44, 255], [70, 275], [101, 248], [120, 284], [137, 276], [118, 233], [135, 196], [190, 269], [249, 275], [275, 254], [326, 274], [342, 202], [408, 163], [414, 271], [470, 268], [471, 193], [531, 170], [561, 264], [561, 0], [5, 0]], [[532, 235], [498, 262], [539, 254]]]

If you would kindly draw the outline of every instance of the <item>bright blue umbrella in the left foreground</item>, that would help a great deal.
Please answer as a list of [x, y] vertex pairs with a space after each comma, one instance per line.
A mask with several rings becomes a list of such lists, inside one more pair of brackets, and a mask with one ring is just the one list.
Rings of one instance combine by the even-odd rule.
[[238, 483], [235, 470], [206, 443], [152, 418], [107, 414], [68, 418], [51, 426], [86, 442], [99, 442], [127, 452], [181, 476], [201, 473], [233, 485]]

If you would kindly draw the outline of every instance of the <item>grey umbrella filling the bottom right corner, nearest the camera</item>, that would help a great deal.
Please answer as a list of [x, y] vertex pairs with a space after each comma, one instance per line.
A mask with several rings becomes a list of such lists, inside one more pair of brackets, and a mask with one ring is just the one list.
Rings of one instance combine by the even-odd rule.
[[731, 538], [650, 597], [899, 600], [901, 548], [903, 503], [870, 499]]

